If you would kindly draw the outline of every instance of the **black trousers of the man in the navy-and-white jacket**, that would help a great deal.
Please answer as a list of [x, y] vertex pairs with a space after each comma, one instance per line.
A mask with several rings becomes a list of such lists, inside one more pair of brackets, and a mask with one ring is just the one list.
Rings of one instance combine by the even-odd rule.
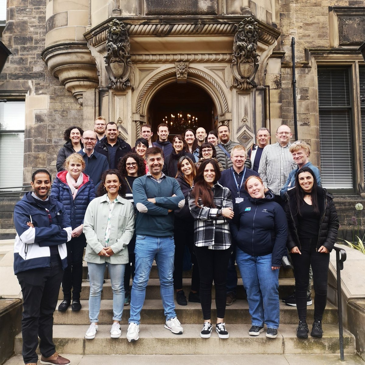
[[44, 357], [55, 353], [53, 343], [53, 312], [57, 305], [62, 275], [61, 260], [51, 262], [47, 268], [22, 271], [16, 276], [23, 293], [23, 360], [37, 362], [38, 346]]

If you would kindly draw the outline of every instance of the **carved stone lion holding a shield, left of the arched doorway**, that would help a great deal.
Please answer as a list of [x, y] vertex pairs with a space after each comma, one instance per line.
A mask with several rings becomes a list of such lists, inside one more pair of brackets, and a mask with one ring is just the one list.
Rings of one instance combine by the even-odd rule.
[[108, 24], [107, 55], [104, 57], [105, 69], [110, 82], [109, 89], [124, 90], [131, 87], [129, 77], [132, 72], [132, 61], [129, 54], [130, 42], [126, 26], [114, 19]]

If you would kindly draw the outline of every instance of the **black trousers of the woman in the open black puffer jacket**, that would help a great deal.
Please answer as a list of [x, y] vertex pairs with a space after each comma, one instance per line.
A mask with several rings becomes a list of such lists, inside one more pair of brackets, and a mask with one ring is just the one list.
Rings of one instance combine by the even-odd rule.
[[301, 255], [292, 253], [294, 265], [295, 297], [300, 320], [307, 319], [307, 288], [309, 267], [312, 265], [314, 287], [314, 319], [321, 320], [327, 303], [329, 253], [316, 251], [318, 238], [299, 238]]

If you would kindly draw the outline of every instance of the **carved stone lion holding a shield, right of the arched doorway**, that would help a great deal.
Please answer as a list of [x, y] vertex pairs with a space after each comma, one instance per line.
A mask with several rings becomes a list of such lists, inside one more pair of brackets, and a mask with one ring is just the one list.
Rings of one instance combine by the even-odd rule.
[[258, 69], [258, 26], [253, 18], [245, 18], [237, 26], [232, 54], [232, 86], [241, 90], [256, 87]]

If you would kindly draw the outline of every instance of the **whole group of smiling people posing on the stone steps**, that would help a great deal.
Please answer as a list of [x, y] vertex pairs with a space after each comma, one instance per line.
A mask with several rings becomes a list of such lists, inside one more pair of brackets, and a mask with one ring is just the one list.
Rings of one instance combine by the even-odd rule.
[[[188, 129], [172, 143], [167, 124], [158, 126], [155, 142], [151, 126], [143, 125], [140, 132], [132, 150], [118, 137], [117, 125], [103, 117], [95, 120], [93, 131], [68, 128], [50, 196], [51, 176], [41, 169], [33, 173], [33, 191], [16, 204], [14, 270], [24, 298], [24, 362], [37, 363], [39, 336], [42, 364], [69, 364], [55, 351], [53, 311], [61, 281], [64, 299], [58, 310], [81, 309], [85, 247], [87, 339], [97, 334], [106, 268], [113, 292], [110, 336], [121, 336], [123, 307], [130, 304], [126, 337], [129, 342], [139, 339], [154, 260], [165, 328], [173, 334], [183, 333], [176, 292], [178, 305], [201, 303], [200, 337], [211, 336], [214, 282], [215, 331], [219, 338], [229, 337], [224, 316], [226, 306], [236, 300], [237, 263], [249, 304], [249, 335], [259, 335], [266, 324], [266, 337], [276, 338], [278, 272], [281, 265], [291, 267], [288, 257], [295, 276], [289, 299], [297, 306], [297, 337], [307, 338], [309, 332], [310, 271], [315, 291], [311, 336], [322, 337], [329, 252], [339, 224], [333, 197], [320, 186], [319, 170], [308, 161], [307, 143], [290, 143], [286, 125], [278, 128], [277, 142], [271, 145], [269, 130], [260, 128], [258, 144], [248, 151], [230, 140], [224, 124], [209, 133], [201, 127]], [[185, 247], [193, 268], [188, 298], [183, 291]]]

